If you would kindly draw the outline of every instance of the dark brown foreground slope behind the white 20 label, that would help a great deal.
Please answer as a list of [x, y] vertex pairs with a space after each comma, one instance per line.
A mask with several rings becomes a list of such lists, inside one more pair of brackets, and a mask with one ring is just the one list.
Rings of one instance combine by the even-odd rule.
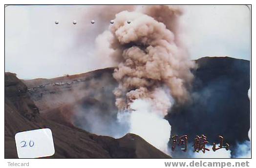
[[52, 130], [55, 146], [50, 158], [171, 158], [135, 134], [114, 139], [43, 118], [15, 74], [5, 73], [4, 89], [5, 158], [18, 157], [17, 132], [46, 127]]

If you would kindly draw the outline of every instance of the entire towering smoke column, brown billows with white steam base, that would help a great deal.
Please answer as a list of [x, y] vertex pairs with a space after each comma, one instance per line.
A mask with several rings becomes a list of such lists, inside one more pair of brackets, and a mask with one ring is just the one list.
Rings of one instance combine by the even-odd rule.
[[98, 49], [104, 48], [99, 52], [118, 64], [113, 93], [119, 122], [164, 152], [171, 133], [164, 117], [175, 102], [189, 100], [195, 67], [177, 35], [181, 14], [167, 5], [122, 11], [96, 40]]

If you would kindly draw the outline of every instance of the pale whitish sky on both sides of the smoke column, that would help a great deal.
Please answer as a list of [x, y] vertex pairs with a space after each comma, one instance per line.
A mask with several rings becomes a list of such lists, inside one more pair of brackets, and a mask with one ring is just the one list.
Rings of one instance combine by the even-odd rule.
[[[182, 40], [191, 59], [229, 56], [250, 60], [251, 19], [247, 6], [182, 7]], [[6, 7], [5, 72], [17, 73], [21, 79], [53, 78], [111, 66], [95, 57], [94, 43], [117, 11], [110, 6], [92, 15], [92, 10], [95, 8], [85, 5]], [[102, 20], [102, 15], [109, 20]], [[76, 25], [72, 24], [74, 20]]]

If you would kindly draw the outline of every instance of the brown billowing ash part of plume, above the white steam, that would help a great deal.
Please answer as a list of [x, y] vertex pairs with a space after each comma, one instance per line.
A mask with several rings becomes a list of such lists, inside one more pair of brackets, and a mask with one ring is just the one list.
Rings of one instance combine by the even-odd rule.
[[[171, 13], [172, 8], [168, 9]], [[154, 92], [163, 86], [170, 89], [177, 102], [188, 99], [186, 86], [192, 81], [190, 69], [194, 63], [175, 43], [175, 35], [163, 22], [143, 13], [123, 11], [116, 15], [110, 31], [113, 56], [120, 62], [113, 74], [119, 82], [114, 91], [119, 109], [128, 108], [139, 98], [158, 101]], [[162, 110], [164, 115], [169, 107], [166, 104], [166, 110]]]

